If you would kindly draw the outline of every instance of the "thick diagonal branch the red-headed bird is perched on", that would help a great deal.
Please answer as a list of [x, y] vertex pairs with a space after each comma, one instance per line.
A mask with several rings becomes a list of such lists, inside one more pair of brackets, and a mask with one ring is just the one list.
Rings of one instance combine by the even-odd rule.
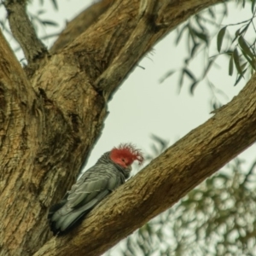
[[205, 124], [108, 196], [79, 228], [52, 238], [34, 256], [101, 255], [248, 148], [256, 141], [255, 84], [256, 75]]

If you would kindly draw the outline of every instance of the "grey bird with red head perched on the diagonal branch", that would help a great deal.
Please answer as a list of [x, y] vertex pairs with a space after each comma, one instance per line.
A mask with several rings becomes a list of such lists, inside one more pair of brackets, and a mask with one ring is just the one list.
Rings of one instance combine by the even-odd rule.
[[63, 199], [49, 207], [49, 228], [54, 236], [67, 234], [80, 224], [84, 216], [130, 177], [131, 164], [143, 163], [143, 154], [131, 143], [121, 143], [102, 154], [67, 191]]

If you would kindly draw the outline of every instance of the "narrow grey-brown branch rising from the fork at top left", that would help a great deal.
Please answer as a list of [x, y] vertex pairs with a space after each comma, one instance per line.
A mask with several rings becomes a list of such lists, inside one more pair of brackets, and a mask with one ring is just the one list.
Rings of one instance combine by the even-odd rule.
[[31, 21], [26, 15], [26, 0], [5, 0], [10, 29], [23, 49], [28, 63], [47, 54], [44, 44], [38, 39]]

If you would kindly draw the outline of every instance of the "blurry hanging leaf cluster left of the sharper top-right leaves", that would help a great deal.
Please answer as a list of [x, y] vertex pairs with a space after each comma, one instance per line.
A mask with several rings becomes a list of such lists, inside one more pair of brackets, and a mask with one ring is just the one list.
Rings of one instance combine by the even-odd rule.
[[[186, 39], [186, 45], [188, 47], [188, 56], [185, 58], [183, 67], [177, 70], [180, 73], [179, 87], [183, 86], [184, 78], [188, 78], [190, 81], [189, 91], [191, 95], [194, 94], [195, 88], [202, 81], [207, 79], [207, 73], [212, 68], [217, 56], [209, 58], [209, 48], [212, 38], [215, 37], [218, 29], [220, 27], [221, 21], [227, 14], [227, 6], [225, 3], [222, 4], [221, 8], [218, 9], [218, 14], [215, 9], [209, 8], [201, 13], [191, 17], [182, 26], [177, 28], [177, 38], [175, 44], [179, 44], [181, 38]], [[224, 30], [220, 33], [219, 37], [224, 37]], [[222, 40], [219, 41], [218, 48], [221, 48]], [[204, 57], [204, 67], [201, 76], [195, 76], [193, 69], [193, 61], [195, 58], [203, 54]], [[192, 67], [192, 68], [191, 68]], [[164, 82], [169, 78], [174, 71], [167, 72], [161, 79], [160, 83]], [[209, 84], [211, 82], [209, 81]]]

